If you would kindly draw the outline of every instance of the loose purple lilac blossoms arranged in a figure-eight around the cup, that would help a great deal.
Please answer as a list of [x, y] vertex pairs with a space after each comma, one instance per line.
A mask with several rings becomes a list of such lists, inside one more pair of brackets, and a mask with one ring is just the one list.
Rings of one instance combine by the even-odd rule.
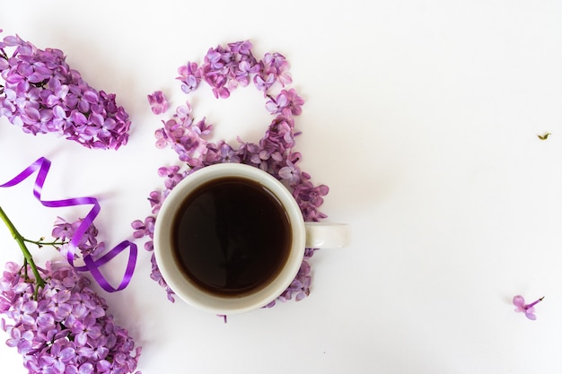
[[[219, 162], [241, 162], [267, 171], [283, 181], [301, 207], [304, 221], [320, 221], [326, 215], [319, 211], [323, 196], [329, 192], [327, 186], [315, 186], [311, 176], [299, 167], [302, 160], [300, 152], [294, 151], [294, 138], [299, 132], [294, 128], [294, 116], [302, 112], [304, 100], [294, 89], [285, 89], [292, 83], [289, 65], [285, 57], [279, 53], [267, 53], [258, 60], [251, 52], [250, 41], [228, 44], [227, 47], [210, 48], [202, 65], [189, 62], [179, 68], [181, 90], [185, 93], [195, 91], [201, 82], [209, 84], [215, 97], [228, 98], [237, 87], [245, 87], [253, 83], [263, 92], [266, 99], [265, 109], [274, 116], [265, 135], [258, 143], [247, 143], [238, 138], [238, 144], [227, 144], [224, 140], [211, 142], [213, 126], [206, 123], [206, 118], [196, 120], [192, 115], [189, 101], [180, 105], [175, 114], [162, 121], [163, 126], [155, 131], [156, 146], [170, 146], [177, 154], [182, 165], [164, 167], [159, 175], [164, 178], [162, 191], [153, 191], [148, 200], [152, 207], [152, 215], [144, 221], [132, 222], [135, 237], [147, 237], [145, 249], [153, 251], [154, 222], [171, 189], [178, 182], [189, 176], [194, 170]], [[280, 89], [277, 94], [273, 92]], [[162, 92], [156, 91], [148, 96], [154, 113], [161, 113]], [[167, 101], [165, 101], [167, 108]], [[303, 265], [291, 286], [277, 300], [302, 300], [308, 296], [311, 283], [311, 267], [307, 260], [312, 257], [314, 248], [306, 248]], [[153, 269], [151, 277], [164, 287], [169, 300], [173, 301], [173, 291], [165, 283], [158, 266], [152, 257]], [[275, 301], [268, 307], [275, 305]]]

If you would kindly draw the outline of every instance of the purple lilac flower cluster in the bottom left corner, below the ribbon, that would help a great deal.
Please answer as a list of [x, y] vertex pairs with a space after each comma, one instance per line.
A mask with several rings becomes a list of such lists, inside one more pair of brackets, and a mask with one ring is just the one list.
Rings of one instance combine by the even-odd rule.
[[22, 354], [29, 373], [135, 371], [141, 348], [115, 324], [90, 281], [66, 263], [47, 263], [40, 273], [45, 285], [39, 290], [30, 265], [8, 263], [0, 277], [6, 344]]

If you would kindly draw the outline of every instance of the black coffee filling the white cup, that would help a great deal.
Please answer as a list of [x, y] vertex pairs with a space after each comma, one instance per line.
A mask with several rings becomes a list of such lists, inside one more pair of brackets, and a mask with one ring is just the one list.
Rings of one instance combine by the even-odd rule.
[[268, 284], [285, 265], [292, 240], [277, 197], [239, 177], [198, 187], [172, 224], [176, 261], [199, 288], [221, 296]]

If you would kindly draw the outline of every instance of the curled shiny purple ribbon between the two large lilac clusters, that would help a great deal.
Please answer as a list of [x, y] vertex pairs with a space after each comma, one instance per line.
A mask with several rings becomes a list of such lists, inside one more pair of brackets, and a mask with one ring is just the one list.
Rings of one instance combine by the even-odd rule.
[[[65, 206], [75, 206], [75, 205], [85, 205], [85, 204], [92, 204], [92, 209], [83, 219], [78, 229], [75, 230], [75, 235], [70, 240], [68, 246], [66, 246], [66, 260], [70, 265], [73, 265], [77, 271], [80, 272], [90, 272], [93, 276], [93, 279], [100, 284], [101, 288], [108, 292], [115, 292], [121, 291], [125, 287], [127, 287], [128, 283], [131, 282], [133, 277], [133, 273], [135, 272], [135, 265], [136, 265], [136, 244], [128, 241], [123, 240], [119, 243], [115, 248], [111, 249], [105, 255], [98, 259], [93, 259], [92, 256], [87, 255], [83, 257], [83, 266], [76, 266], [75, 265], [75, 253], [76, 248], [78, 248], [78, 243], [85, 235], [86, 231], [90, 226], [93, 224], [93, 220], [97, 217], [98, 213], [100, 213], [101, 207], [98, 199], [95, 197], [74, 197], [69, 199], [62, 199], [62, 200], [42, 200], [41, 199], [41, 191], [43, 190], [43, 185], [45, 184], [45, 179], [47, 178], [48, 170], [50, 168], [51, 162], [48, 161], [45, 157], [41, 157], [39, 160], [33, 162], [28, 168], [23, 170], [20, 174], [18, 174], [12, 180], [0, 185], [0, 187], [13, 187], [19, 183], [21, 183], [26, 178], [30, 177], [35, 171], [39, 170], [37, 174], [37, 178], [35, 179], [35, 185], [33, 186], [33, 196], [35, 196], [41, 204], [49, 207], [49, 208], [60, 208]], [[119, 287], [114, 288], [110, 285], [110, 283], [105, 279], [103, 274], [101, 274], [100, 267], [101, 265], [107, 264], [113, 257], [116, 257], [121, 253], [123, 250], [130, 248], [129, 256], [127, 261], [127, 268], [125, 270], [125, 274], [123, 275], [123, 279], [121, 283], [119, 283]]]

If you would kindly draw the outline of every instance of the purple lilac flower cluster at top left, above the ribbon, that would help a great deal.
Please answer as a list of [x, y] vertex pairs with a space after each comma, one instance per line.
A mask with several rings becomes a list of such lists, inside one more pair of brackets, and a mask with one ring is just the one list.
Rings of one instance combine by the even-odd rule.
[[25, 133], [55, 133], [88, 148], [127, 144], [130, 121], [115, 94], [93, 89], [65, 58], [19, 36], [0, 40], [0, 117]]

